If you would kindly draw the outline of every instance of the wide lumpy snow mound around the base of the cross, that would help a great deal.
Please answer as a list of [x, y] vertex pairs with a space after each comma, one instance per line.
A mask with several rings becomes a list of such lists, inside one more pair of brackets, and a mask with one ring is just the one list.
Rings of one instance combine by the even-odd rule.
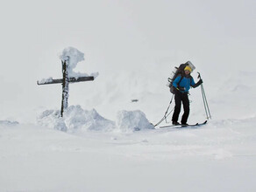
[[38, 122], [41, 126], [68, 133], [88, 130], [107, 132], [116, 128], [115, 122], [104, 119], [95, 109], [88, 111], [81, 106], [69, 106], [63, 118], [58, 110], [46, 110], [39, 115]]

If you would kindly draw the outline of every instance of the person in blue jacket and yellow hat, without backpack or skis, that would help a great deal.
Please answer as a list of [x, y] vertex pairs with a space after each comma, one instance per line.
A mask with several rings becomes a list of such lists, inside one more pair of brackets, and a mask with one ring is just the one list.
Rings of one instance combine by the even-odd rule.
[[[175, 99], [175, 106], [174, 106], [174, 114], [173, 114], [173, 125], [182, 125], [188, 126], [187, 120], [189, 115], [189, 100], [188, 100], [188, 90], [190, 86], [196, 88], [203, 83], [203, 80], [200, 79], [197, 83], [195, 83], [194, 79], [190, 75], [192, 72], [192, 68], [187, 65], [184, 68], [184, 71], [181, 72], [181, 75], [177, 76], [173, 81], [173, 86], [175, 88], [174, 91], [174, 99]], [[181, 102], [183, 105], [184, 113], [181, 118], [181, 124], [178, 122], [179, 114], [181, 112]]]

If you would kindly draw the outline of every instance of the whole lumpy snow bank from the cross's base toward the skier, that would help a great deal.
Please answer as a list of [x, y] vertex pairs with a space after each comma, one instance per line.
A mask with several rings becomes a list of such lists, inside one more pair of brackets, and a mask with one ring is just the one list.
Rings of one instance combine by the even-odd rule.
[[41, 126], [54, 128], [68, 133], [84, 131], [131, 132], [142, 129], [153, 129], [145, 113], [137, 111], [120, 111], [117, 113], [117, 124], [103, 118], [95, 109], [85, 110], [81, 106], [68, 106], [63, 118], [59, 110], [46, 110], [38, 117]]

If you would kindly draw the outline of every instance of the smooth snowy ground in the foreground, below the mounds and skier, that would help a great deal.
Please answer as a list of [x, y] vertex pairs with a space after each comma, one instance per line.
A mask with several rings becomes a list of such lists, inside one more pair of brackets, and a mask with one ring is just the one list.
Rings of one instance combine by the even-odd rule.
[[0, 191], [253, 191], [255, 123], [82, 136], [2, 123]]

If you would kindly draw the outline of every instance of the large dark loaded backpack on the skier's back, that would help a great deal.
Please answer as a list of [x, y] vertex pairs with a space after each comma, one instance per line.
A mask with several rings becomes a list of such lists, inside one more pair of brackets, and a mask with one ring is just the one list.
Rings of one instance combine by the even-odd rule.
[[189, 65], [192, 70], [196, 69], [196, 67], [190, 61], [186, 62], [185, 64], [181, 64], [179, 67], [176, 67], [176, 66], [174, 67], [174, 71], [172, 72], [172, 77], [168, 78], [168, 82], [169, 82], [168, 86], [170, 87], [171, 93], [174, 94], [176, 90], [176, 88], [173, 86], [174, 79], [176, 79], [179, 75], [181, 75], [181, 79], [178, 82], [178, 86], [179, 86], [179, 84], [181, 83], [181, 80], [184, 77], [184, 69], [187, 65]]

